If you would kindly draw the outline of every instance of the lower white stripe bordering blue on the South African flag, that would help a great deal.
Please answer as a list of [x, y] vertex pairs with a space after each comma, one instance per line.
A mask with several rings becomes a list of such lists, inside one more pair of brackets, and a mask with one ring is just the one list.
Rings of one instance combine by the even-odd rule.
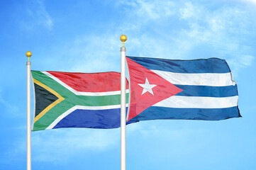
[[[126, 107], [128, 107], [128, 103], [126, 104]], [[60, 122], [63, 118], [65, 118], [67, 115], [72, 113], [73, 111], [77, 109], [84, 109], [84, 110], [106, 110], [106, 109], [114, 109], [114, 108], [121, 108], [121, 105], [111, 105], [111, 106], [74, 106], [72, 108], [69, 108], [69, 110], [65, 111], [65, 113], [62, 113], [57, 119], [54, 120], [52, 124], [48, 126], [46, 129], [52, 129], [57, 125], [57, 123]]]

